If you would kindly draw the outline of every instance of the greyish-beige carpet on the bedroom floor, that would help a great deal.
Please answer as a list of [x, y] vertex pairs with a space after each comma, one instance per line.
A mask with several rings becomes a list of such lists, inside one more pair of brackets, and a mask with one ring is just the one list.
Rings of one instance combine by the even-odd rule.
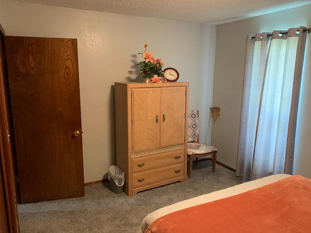
[[139, 192], [115, 194], [110, 183], [86, 186], [83, 198], [18, 204], [21, 233], [136, 233], [150, 212], [175, 202], [242, 183], [242, 178], [211, 162], [193, 165], [191, 179]]

